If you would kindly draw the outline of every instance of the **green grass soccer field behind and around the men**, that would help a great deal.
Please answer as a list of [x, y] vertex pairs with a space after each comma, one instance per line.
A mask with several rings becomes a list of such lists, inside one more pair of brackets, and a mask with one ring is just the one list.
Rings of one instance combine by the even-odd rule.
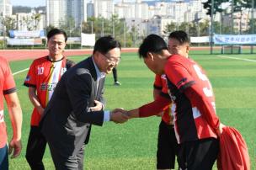
[[[204, 51], [191, 51], [190, 56], [205, 68], [216, 95], [216, 110], [221, 122], [241, 132], [248, 144], [252, 168], [256, 169], [256, 56], [227, 55], [240, 59], [221, 58], [207, 55]], [[70, 57], [81, 61], [84, 57]], [[12, 71], [18, 72], [29, 67], [31, 61], [13, 61]], [[10, 160], [10, 169], [29, 169], [25, 160], [25, 148], [29, 135], [29, 121], [32, 104], [28, 89], [23, 86], [27, 72], [14, 76], [19, 89], [19, 99], [23, 109], [23, 151], [20, 157]], [[118, 67], [122, 86], [113, 86], [113, 76], [105, 83], [107, 109], [122, 107], [134, 109], [152, 101], [153, 73], [147, 69], [136, 54], [123, 54]], [[5, 117], [8, 122], [8, 116]], [[116, 125], [108, 122], [103, 127], [93, 126], [90, 142], [85, 151], [85, 169], [156, 169], [157, 130], [159, 117], [129, 120]], [[8, 122], [9, 136], [11, 137]], [[54, 169], [49, 149], [45, 151], [45, 169]], [[216, 167], [215, 167], [216, 169]]]

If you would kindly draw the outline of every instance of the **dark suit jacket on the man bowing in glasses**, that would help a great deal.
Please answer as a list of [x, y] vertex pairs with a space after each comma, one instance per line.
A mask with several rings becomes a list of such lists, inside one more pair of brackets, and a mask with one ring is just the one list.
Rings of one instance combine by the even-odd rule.
[[76, 154], [88, 142], [91, 125], [103, 125], [104, 111], [90, 111], [93, 101], [104, 101], [104, 78], [97, 88], [92, 57], [72, 66], [61, 77], [40, 122], [49, 146], [66, 156]]

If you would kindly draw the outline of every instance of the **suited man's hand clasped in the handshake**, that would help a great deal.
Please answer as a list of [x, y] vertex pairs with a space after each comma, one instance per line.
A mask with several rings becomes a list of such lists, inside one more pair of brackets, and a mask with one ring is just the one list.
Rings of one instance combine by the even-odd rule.
[[126, 112], [127, 111], [122, 108], [112, 110], [110, 112], [110, 121], [114, 121], [116, 124], [125, 123], [129, 119], [125, 114]]

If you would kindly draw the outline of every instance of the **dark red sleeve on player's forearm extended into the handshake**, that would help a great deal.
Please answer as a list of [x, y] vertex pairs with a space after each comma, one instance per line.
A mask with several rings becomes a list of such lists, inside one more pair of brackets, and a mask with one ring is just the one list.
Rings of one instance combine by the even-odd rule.
[[170, 104], [172, 104], [172, 100], [170, 98], [164, 98], [159, 95], [152, 103], [145, 104], [139, 108], [140, 117], [157, 115], [167, 109]]

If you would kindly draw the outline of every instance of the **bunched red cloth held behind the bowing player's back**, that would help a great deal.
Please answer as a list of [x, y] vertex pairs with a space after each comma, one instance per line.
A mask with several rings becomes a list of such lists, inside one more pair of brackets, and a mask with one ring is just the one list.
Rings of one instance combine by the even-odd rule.
[[250, 170], [247, 145], [235, 128], [223, 128], [217, 167], [220, 170]]

